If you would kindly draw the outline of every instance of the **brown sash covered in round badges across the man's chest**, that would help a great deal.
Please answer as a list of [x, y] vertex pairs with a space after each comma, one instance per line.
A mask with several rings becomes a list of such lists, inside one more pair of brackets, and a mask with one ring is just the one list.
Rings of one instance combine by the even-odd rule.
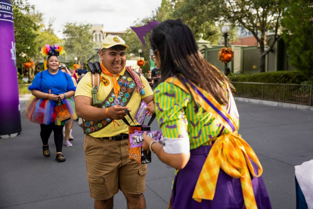
[[[125, 76], [125, 79], [123, 79]], [[128, 79], [128, 80], [127, 80]], [[135, 80], [132, 78], [131, 74], [128, 71], [125, 71], [124, 75], [119, 78], [118, 86], [121, 85], [121, 91], [118, 95], [114, 93], [114, 89], [110, 91], [107, 97], [103, 100], [102, 104], [98, 106], [98, 108], [107, 108], [112, 106], [114, 100], [117, 98], [119, 100], [119, 105], [125, 107], [129, 100], [131, 99], [132, 95], [136, 92], [137, 85]], [[113, 94], [114, 93], [114, 98]], [[110, 118], [98, 120], [98, 121], [87, 121], [83, 119], [83, 129], [84, 134], [91, 134], [108, 126], [111, 122], [113, 122]]]

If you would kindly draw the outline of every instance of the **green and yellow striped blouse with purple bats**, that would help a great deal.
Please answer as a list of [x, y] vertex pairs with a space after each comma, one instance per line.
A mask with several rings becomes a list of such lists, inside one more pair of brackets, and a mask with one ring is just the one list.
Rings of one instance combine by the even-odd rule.
[[[163, 137], [189, 138], [190, 149], [208, 145], [210, 139], [228, 132], [203, 107], [197, 110], [191, 95], [172, 83], [162, 82], [154, 89], [154, 102]], [[227, 105], [223, 108], [227, 109]], [[239, 118], [237, 108], [234, 109], [230, 114]]]

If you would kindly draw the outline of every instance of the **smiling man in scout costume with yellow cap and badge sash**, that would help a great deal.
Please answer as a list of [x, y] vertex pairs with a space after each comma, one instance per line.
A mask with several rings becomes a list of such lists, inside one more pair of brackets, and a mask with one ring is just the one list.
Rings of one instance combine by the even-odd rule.
[[[147, 166], [129, 160], [128, 126], [121, 119], [126, 109], [134, 118], [142, 100], [147, 104], [152, 101], [153, 92], [144, 76], [125, 67], [126, 48], [129, 46], [123, 39], [108, 35], [99, 52], [102, 72], [88, 72], [75, 93], [76, 112], [83, 119], [87, 179], [95, 208], [113, 208], [113, 196], [119, 190], [128, 208], [146, 207], [142, 193]], [[103, 101], [97, 106], [93, 106], [91, 93], [95, 89], [96, 100]]]

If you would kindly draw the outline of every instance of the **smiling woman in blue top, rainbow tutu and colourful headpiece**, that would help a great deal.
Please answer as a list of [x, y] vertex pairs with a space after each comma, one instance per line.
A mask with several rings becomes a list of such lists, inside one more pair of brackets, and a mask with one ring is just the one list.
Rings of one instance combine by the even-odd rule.
[[77, 119], [73, 98], [76, 87], [74, 87], [74, 83], [67, 73], [59, 71], [58, 56], [62, 52], [63, 47], [56, 44], [54, 46], [47, 44], [42, 48], [42, 53], [48, 56], [48, 69], [37, 73], [32, 85], [28, 87], [34, 97], [30, 99], [25, 110], [26, 118], [29, 121], [40, 124], [44, 157], [50, 156], [48, 140], [51, 132], [54, 132], [54, 143], [57, 151], [55, 159], [58, 162], [65, 161], [62, 154], [64, 121], [60, 121], [54, 108], [59, 101], [63, 101], [71, 114], [71, 119]]

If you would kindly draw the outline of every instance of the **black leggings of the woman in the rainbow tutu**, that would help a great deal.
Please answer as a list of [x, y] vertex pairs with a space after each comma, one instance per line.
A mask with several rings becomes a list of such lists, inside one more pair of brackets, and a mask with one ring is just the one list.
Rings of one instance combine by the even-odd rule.
[[51, 132], [54, 133], [54, 143], [55, 147], [57, 148], [57, 152], [62, 152], [62, 146], [63, 146], [63, 126], [57, 126], [54, 123], [51, 123], [49, 125], [40, 124], [40, 137], [42, 140], [42, 143], [44, 145], [48, 144], [48, 139], [50, 137]]

